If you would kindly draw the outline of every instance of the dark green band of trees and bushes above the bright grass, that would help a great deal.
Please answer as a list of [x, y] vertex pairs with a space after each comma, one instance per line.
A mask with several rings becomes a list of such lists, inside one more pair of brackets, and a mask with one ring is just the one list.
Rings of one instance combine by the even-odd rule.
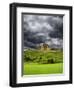
[[42, 63], [42, 64], [49, 64], [49, 63], [60, 63], [63, 62], [62, 53], [57, 54], [57, 52], [24, 52], [24, 61], [25, 62], [33, 62], [33, 63]]

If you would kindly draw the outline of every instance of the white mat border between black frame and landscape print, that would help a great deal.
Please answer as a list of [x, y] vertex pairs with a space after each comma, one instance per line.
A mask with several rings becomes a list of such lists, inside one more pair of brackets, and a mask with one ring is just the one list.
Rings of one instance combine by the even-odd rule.
[[[21, 13], [64, 14], [63, 18], [63, 74], [21, 76]], [[52, 82], [69, 80], [69, 10], [17, 8], [17, 83]]]

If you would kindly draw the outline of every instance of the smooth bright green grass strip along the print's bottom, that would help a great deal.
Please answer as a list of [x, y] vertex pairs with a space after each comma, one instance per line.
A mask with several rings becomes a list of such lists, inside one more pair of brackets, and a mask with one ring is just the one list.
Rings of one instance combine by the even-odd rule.
[[62, 72], [63, 72], [63, 63], [55, 63], [55, 64], [24, 63], [23, 65], [23, 75], [58, 74]]

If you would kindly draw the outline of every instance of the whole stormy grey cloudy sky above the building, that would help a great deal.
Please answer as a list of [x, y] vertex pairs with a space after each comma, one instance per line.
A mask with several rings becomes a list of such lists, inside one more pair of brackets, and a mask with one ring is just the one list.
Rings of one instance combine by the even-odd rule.
[[23, 14], [24, 48], [63, 48], [63, 16]]

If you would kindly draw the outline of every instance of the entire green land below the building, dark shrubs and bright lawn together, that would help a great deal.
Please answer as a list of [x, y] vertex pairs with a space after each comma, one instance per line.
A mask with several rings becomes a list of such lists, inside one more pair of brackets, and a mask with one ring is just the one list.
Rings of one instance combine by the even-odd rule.
[[23, 57], [23, 75], [58, 74], [63, 72], [62, 50], [27, 50]]

